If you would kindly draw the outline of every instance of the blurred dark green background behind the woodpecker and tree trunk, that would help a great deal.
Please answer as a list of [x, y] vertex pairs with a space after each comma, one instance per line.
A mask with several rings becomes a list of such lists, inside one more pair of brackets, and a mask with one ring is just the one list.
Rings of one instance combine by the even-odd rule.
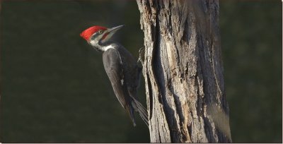
[[[0, 16], [2, 143], [149, 143], [79, 37], [124, 24], [115, 40], [137, 56], [136, 1], [6, 0]], [[282, 2], [220, 1], [219, 26], [233, 142], [282, 143]]]

